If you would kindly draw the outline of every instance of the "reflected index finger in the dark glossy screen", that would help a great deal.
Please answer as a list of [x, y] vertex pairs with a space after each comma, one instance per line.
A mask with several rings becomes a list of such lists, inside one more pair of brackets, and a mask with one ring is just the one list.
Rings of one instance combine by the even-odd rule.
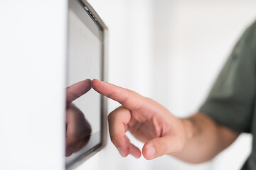
[[92, 81], [90, 79], [86, 79], [83, 81], [79, 81], [76, 84], [73, 84], [66, 89], [66, 100], [67, 100], [67, 107], [70, 106], [72, 101], [79, 98], [83, 94], [86, 94], [87, 91], [92, 89]]

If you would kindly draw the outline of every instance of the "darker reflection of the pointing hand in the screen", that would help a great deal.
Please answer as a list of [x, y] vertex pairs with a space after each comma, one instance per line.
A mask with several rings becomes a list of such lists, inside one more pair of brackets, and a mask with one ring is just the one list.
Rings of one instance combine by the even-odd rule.
[[85, 119], [85, 115], [72, 102], [86, 94], [92, 88], [91, 80], [86, 79], [72, 86], [69, 86], [66, 91], [67, 108], [66, 108], [66, 157], [69, 157], [74, 152], [78, 152], [84, 147], [92, 132], [90, 123]]

